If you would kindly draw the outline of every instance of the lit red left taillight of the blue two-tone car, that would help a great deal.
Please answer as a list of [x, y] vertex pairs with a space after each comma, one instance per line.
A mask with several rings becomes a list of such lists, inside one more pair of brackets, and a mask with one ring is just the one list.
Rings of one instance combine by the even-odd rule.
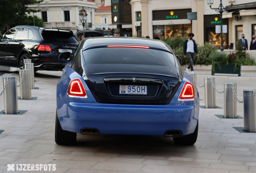
[[70, 81], [68, 86], [68, 96], [87, 98], [85, 88], [80, 79], [76, 78]]

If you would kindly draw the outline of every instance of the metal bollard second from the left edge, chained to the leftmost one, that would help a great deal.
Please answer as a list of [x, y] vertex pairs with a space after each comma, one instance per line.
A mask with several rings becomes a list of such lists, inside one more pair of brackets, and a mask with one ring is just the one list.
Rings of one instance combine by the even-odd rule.
[[[20, 82], [22, 78], [22, 73], [23, 70], [19, 70], [19, 75], [20, 75]], [[30, 76], [29, 76], [29, 70], [24, 70], [24, 77], [23, 81], [21, 83], [21, 99], [22, 100], [31, 100], [31, 87], [30, 87]]]

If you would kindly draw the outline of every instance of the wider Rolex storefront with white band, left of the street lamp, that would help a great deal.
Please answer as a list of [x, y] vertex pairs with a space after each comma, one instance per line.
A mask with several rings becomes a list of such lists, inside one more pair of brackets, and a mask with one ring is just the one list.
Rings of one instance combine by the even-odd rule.
[[188, 34], [192, 32], [192, 23], [188, 20], [187, 12], [191, 12], [191, 9], [153, 10], [153, 37], [188, 38]]

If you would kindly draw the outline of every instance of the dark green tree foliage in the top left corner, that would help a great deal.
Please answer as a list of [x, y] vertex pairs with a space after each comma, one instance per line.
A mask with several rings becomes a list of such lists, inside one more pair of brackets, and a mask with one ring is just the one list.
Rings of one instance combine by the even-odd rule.
[[43, 2], [43, 0], [0, 0], [1, 32], [5, 32], [8, 28], [17, 25], [29, 25], [31, 19], [27, 14], [38, 12], [39, 10], [33, 10], [27, 6], [40, 2]]

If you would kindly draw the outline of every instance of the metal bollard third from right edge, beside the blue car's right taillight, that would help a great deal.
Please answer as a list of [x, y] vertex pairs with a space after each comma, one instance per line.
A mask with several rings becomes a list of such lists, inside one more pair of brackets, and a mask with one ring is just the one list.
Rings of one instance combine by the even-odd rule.
[[213, 88], [211, 79], [213, 80], [213, 84], [215, 84], [215, 77], [204, 78], [205, 108], [216, 108], [215, 89]]

